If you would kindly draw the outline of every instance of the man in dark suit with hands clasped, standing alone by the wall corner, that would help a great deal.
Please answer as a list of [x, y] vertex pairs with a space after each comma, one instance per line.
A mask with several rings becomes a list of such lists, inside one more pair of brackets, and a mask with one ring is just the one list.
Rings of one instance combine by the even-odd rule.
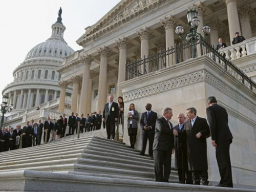
[[142, 129], [141, 131], [141, 140], [142, 140], [142, 146], [140, 155], [145, 155], [146, 151], [146, 143], [147, 139], [149, 142], [148, 145], [148, 155], [150, 155], [151, 158], [153, 158], [153, 143], [154, 143], [154, 136], [155, 136], [155, 126], [157, 121], [157, 113], [153, 112], [152, 104], [147, 103], [145, 105], [146, 112], [142, 113], [141, 119], [140, 119], [140, 127]]

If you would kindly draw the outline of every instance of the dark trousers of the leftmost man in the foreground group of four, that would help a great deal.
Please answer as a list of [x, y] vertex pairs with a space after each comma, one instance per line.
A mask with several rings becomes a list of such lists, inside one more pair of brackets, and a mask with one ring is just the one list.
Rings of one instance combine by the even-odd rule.
[[156, 181], [169, 182], [172, 149], [168, 151], [154, 150]]

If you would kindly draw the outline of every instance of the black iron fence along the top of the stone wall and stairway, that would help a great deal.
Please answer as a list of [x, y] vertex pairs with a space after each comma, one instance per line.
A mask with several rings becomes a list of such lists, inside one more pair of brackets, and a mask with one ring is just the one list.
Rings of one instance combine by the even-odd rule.
[[207, 55], [210, 59], [214, 60], [221, 68], [241, 81], [256, 95], [256, 83], [231, 61], [227, 60], [225, 55], [219, 53], [214, 46], [209, 45], [203, 38], [177, 44], [168, 50], [163, 50], [143, 59], [126, 63], [126, 80], [155, 72], [168, 66], [177, 65], [178, 63], [201, 55]]

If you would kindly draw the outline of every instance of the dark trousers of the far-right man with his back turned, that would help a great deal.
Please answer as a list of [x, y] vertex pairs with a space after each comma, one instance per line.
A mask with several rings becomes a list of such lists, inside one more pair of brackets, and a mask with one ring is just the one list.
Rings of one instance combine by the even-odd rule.
[[219, 167], [221, 180], [219, 185], [233, 187], [232, 170], [229, 156], [229, 147], [232, 140], [227, 140], [217, 144], [216, 159]]

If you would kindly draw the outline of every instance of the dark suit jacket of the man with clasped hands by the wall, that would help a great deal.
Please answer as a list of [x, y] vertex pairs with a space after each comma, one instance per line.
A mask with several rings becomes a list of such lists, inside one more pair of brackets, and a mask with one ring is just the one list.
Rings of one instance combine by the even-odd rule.
[[[150, 115], [148, 116], [147, 119], [147, 111], [141, 114], [140, 118], [140, 127], [142, 129], [141, 134], [155, 134], [155, 126], [156, 126], [156, 121], [157, 121], [157, 113], [151, 111]], [[151, 126], [151, 130], [144, 130], [144, 126], [148, 125]]]

